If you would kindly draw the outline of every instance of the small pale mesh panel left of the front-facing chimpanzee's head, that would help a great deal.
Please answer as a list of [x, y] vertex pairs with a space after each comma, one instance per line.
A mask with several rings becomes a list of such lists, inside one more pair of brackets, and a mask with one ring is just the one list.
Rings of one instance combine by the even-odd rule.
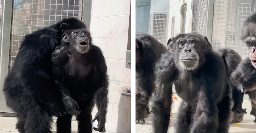
[[167, 14], [154, 14], [153, 37], [165, 44], [166, 41]]

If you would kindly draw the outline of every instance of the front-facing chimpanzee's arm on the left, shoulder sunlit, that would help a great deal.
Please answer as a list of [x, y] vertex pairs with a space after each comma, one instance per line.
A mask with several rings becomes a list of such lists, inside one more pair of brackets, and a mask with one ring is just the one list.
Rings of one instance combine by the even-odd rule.
[[175, 77], [173, 55], [166, 52], [156, 64], [156, 88], [151, 101], [154, 133], [167, 133], [172, 104], [172, 81]]

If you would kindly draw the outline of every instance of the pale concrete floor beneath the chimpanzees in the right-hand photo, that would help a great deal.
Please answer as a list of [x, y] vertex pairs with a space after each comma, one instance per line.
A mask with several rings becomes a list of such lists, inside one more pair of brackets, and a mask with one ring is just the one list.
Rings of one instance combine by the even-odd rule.
[[[173, 95], [173, 97], [174, 96], [177, 97], [177, 100], [174, 100], [168, 133], [174, 133], [174, 125], [176, 122], [177, 112], [181, 101], [180, 97], [178, 97], [177, 95]], [[245, 114], [244, 120], [239, 122], [241, 126], [237, 126], [236, 123], [231, 124], [229, 133], [256, 133], [256, 123], [253, 122], [255, 117], [250, 115], [250, 112], [252, 110], [251, 101], [248, 100], [247, 95], [244, 96], [243, 108], [247, 109], [247, 114]], [[152, 133], [151, 116], [148, 115], [148, 118], [146, 118], [145, 120], [146, 122], [144, 123], [144, 125], [136, 124], [136, 133]]]

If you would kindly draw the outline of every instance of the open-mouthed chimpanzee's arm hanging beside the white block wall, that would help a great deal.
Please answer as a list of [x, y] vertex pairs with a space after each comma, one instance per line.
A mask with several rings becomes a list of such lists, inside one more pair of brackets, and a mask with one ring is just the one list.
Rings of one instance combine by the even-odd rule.
[[108, 75], [107, 75], [107, 66], [105, 58], [100, 50], [99, 47], [92, 45], [93, 53], [94, 54], [94, 60], [96, 61], [95, 67], [97, 71], [97, 77], [95, 77], [95, 80], [98, 80], [99, 89], [95, 93], [95, 101], [98, 108], [98, 112], [93, 119], [93, 122], [97, 119], [98, 120], [98, 127], [94, 128], [94, 130], [99, 132], [105, 132], [105, 122], [106, 122], [106, 113], [108, 108], [108, 87], [109, 87], [109, 81], [108, 81]]

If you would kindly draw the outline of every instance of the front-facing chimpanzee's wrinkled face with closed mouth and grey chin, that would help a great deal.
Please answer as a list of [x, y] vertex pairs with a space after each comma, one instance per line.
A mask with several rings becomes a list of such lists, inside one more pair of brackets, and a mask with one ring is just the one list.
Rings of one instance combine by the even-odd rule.
[[176, 41], [179, 48], [180, 66], [187, 70], [196, 70], [199, 66], [199, 51], [200, 42], [196, 37], [180, 38]]

